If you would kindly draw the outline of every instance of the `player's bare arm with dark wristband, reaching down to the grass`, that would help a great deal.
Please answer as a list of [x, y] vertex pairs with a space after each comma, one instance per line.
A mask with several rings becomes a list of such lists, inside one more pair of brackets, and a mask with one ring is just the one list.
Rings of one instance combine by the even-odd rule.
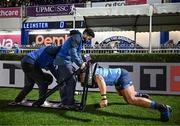
[[101, 94], [100, 106], [101, 108], [105, 108], [107, 106], [106, 83], [104, 81], [104, 78], [101, 75], [96, 75], [95, 78], [96, 78], [96, 83], [99, 87], [100, 94]]

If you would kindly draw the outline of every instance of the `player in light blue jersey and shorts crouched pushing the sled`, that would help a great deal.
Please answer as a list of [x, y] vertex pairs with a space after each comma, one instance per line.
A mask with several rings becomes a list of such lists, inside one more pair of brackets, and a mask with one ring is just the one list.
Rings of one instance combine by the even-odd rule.
[[[135, 91], [132, 79], [127, 70], [122, 68], [104, 68], [97, 64], [93, 65], [96, 67], [92, 66], [92, 73], [94, 73], [92, 79], [94, 79], [101, 94], [101, 108], [105, 108], [108, 105], [106, 86], [115, 86], [118, 94], [121, 94], [128, 104], [158, 110], [161, 121], [169, 121], [172, 111], [171, 107], [169, 105], [159, 104], [146, 97], [137, 97], [137, 92]], [[85, 80], [84, 77], [85, 73], [82, 73], [80, 76], [82, 84]]]

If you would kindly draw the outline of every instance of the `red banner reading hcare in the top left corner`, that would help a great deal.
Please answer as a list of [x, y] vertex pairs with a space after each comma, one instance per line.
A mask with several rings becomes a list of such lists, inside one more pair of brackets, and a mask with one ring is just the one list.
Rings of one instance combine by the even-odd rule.
[[19, 18], [21, 17], [20, 7], [0, 8], [0, 18]]

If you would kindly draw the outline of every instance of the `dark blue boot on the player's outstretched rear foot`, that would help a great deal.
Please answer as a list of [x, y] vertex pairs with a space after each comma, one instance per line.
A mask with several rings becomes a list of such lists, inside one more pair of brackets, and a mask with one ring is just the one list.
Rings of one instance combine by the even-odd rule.
[[167, 122], [171, 116], [172, 108], [169, 105], [163, 105], [164, 110], [161, 112], [161, 121]]

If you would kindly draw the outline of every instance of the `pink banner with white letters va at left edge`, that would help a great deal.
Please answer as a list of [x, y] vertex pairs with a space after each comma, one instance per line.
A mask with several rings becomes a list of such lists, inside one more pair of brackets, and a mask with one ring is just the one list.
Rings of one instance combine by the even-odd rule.
[[0, 47], [12, 48], [14, 44], [21, 45], [21, 35], [0, 35]]

